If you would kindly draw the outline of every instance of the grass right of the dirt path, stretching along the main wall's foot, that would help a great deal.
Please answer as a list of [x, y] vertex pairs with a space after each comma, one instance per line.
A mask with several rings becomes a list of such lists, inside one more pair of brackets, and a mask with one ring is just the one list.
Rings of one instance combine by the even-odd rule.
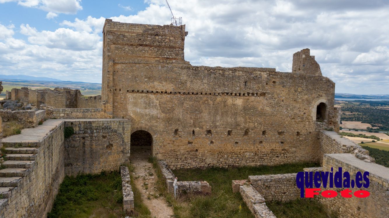
[[[304, 167], [317, 167], [318, 164], [299, 163], [280, 166], [238, 167], [238, 168], [206, 168], [206, 169], [179, 169], [173, 173], [180, 181], [207, 181], [212, 186], [211, 195], [181, 195], [177, 200], [164, 190], [166, 200], [172, 204], [175, 215], [179, 218], [212, 218], [253, 217], [251, 211], [243, 202], [239, 193], [232, 193], [231, 181], [248, 179], [250, 175], [296, 173]], [[158, 173], [158, 186], [166, 187]], [[160, 184], [160, 185], [159, 185]]]

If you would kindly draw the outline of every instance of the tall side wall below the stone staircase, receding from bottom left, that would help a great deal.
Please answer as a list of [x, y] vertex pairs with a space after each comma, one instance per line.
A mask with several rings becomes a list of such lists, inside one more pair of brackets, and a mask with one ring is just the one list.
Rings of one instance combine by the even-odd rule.
[[35, 164], [12, 190], [8, 201], [3, 202], [1, 217], [46, 217], [65, 176], [63, 128], [61, 123], [44, 140], [35, 143], [39, 146]]

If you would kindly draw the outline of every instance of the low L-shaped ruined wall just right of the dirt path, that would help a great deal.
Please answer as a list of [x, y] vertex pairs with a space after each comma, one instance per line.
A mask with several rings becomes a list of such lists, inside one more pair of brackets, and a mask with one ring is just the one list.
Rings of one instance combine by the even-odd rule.
[[[172, 170], [163, 160], [158, 160], [159, 169], [161, 169], [163, 178], [166, 180], [168, 191], [173, 193], [173, 182], [175, 175]], [[197, 194], [211, 194], [212, 187], [207, 181], [177, 181], [177, 194], [197, 193]]]

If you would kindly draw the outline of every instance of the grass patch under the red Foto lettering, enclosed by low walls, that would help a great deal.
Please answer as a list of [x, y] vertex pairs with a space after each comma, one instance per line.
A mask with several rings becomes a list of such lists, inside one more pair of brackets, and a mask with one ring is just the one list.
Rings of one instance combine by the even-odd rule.
[[327, 216], [322, 204], [315, 199], [296, 199], [289, 202], [266, 202], [268, 208], [277, 218], [335, 218], [335, 215]]

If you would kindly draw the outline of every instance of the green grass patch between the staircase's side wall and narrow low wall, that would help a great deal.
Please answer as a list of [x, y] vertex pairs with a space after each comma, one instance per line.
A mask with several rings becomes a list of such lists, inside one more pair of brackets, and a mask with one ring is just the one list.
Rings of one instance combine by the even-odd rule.
[[123, 212], [120, 173], [65, 176], [48, 218], [120, 218]]

